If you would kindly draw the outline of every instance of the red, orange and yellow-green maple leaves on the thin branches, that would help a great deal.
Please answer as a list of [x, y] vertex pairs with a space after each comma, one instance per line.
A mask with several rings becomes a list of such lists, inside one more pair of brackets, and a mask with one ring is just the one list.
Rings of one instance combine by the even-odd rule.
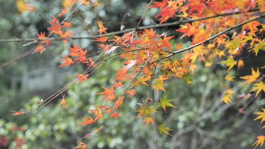
[[[42, 53], [45, 47], [48, 47], [51, 41], [48, 37], [55, 35], [62, 38], [64, 44], [67, 45], [68, 39], [71, 39], [72, 32], [67, 31], [70, 28], [71, 23], [65, 20], [59, 22], [57, 19], [64, 15], [69, 14], [70, 8], [76, 3], [91, 6], [101, 5], [98, 0], [63, 0], [64, 9], [61, 9], [61, 13], [56, 17], [53, 17], [52, 21], [49, 21], [51, 25], [48, 30], [49, 35], [45, 33], [37, 33], [37, 39], [41, 40], [40, 45], [34, 50], [34, 52]], [[21, 5], [21, 4], [20, 4]], [[25, 11], [25, 8], [20, 8], [20, 11]], [[244, 58], [240, 58], [242, 50], [249, 49], [249, 54], [254, 53], [258, 55], [260, 50], [265, 50], [265, 39], [263, 33], [265, 31], [265, 25], [261, 22], [254, 20], [247, 24], [242, 25], [241, 30], [234, 32], [231, 35], [223, 33], [220, 34], [211, 42], [205, 42], [207, 39], [216, 35], [223, 30], [244, 23], [247, 20], [253, 19], [265, 12], [264, 0], [162, 0], [155, 1], [150, 6], [151, 8], [159, 8], [159, 13], [156, 18], [159, 18], [159, 24], [166, 21], [170, 21], [171, 18], [185, 19], [198, 19], [209, 16], [216, 16], [208, 19], [201, 19], [198, 21], [191, 21], [181, 25], [177, 32], [183, 33], [180, 39], [185, 36], [190, 37], [192, 42], [191, 46], [197, 43], [202, 43], [195, 46], [193, 49], [182, 54], [182, 58], [177, 59], [173, 55], [178, 50], [182, 50], [181, 43], [173, 45], [170, 43], [170, 39], [176, 38], [175, 36], [168, 36], [168, 33], [157, 33], [153, 28], [142, 29], [139, 31], [125, 32], [122, 36], [113, 35], [111, 37], [105, 36], [107, 28], [103, 22], [97, 21], [99, 38], [95, 38], [98, 48], [105, 54], [106, 58], [103, 61], [95, 61], [93, 57], [90, 57], [89, 50], [83, 50], [77, 44], [73, 47], [69, 47], [69, 54], [62, 55], [64, 58], [60, 59], [62, 64], [60, 67], [69, 67], [74, 63], [82, 63], [87, 67], [97, 68], [102, 63], [113, 57], [119, 57], [123, 60], [124, 66], [117, 70], [115, 78], [111, 82], [110, 87], [102, 87], [104, 91], [98, 93], [103, 95], [102, 100], [106, 101], [106, 105], [97, 105], [95, 109], [89, 109], [94, 114], [94, 118], [84, 118], [83, 122], [78, 125], [92, 124], [103, 118], [104, 114], [108, 117], [116, 118], [119, 116], [117, 111], [119, 106], [123, 103], [123, 100], [128, 95], [132, 98], [136, 94], [134, 88], [139, 85], [149, 86], [150, 90], [155, 89], [165, 92], [165, 81], [170, 77], [182, 78], [187, 84], [192, 83], [190, 77], [191, 74], [197, 70], [196, 63], [201, 62], [205, 67], [210, 67], [214, 63], [224, 64], [228, 67], [228, 75], [224, 79], [228, 82], [232, 82], [235, 76], [231, 76], [229, 71], [234, 67], [241, 69], [244, 66]], [[257, 9], [258, 8], [258, 9]], [[257, 11], [253, 11], [257, 9]], [[237, 13], [235, 15], [220, 15], [225, 13]], [[240, 13], [239, 13], [240, 12]], [[71, 12], [72, 13], [72, 12]], [[219, 16], [218, 16], [219, 15]], [[174, 47], [174, 48], [172, 48]], [[109, 56], [111, 54], [114, 55]], [[236, 59], [237, 58], [237, 59]], [[251, 84], [253, 87], [249, 91], [256, 91], [255, 97], [261, 92], [265, 92], [264, 76], [261, 75], [261, 68], [252, 68], [251, 75], [240, 76], [240, 79], [245, 80], [243, 84]], [[255, 71], [256, 70], [256, 71]], [[79, 82], [87, 80], [89, 73], [77, 74]], [[116, 92], [124, 88], [122, 94], [116, 94]], [[222, 101], [229, 104], [232, 102], [236, 91], [233, 88], [224, 86], [224, 92]], [[147, 97], [142, 103], [138, 103], [139, 108], [136, 110], [138, 117], [142, 117], [142, 120], [146, 125], [155, 123], [154, 113], [161, 107], [166, 112], [167, 107], [176, 108], [171, 104], [172, 100], [163, 97], [159, 99], [157, 108], [152, 104], [153, 99], [150, 96]], [[65, 106], [65, 99], [60, 102], [62, 108]], [[109, 106], [110, 105], [110, 106]], [[265, 109], [263, 112], [256, 112], [259, 116], [255, 119], [262, 119], [265, 121]], [[13, 115], [21, 115], [23, 112], [14, 111]], [[108, 120], [108, 119], [107, 119]], [[107, 122], [106, 120], [106, 122]], [[169, 134], [172, 129], [165, 127], [166, 124], [160, 124], [158, 129], [161, 133]], [[95, 135], [105, 125], [102, 125], [99, 129], [94, 130], [90, 134], [87, 134], [83, 138]], [[263, 127], [264, 128], [264, 127]], [[257, 137], [257, 142], [253, 145], [262, 145], [265, 141], [265, 136], [261, 135]], [[86, 144], [79, 142], [79, 146], [75, 148], [84, 149]]]

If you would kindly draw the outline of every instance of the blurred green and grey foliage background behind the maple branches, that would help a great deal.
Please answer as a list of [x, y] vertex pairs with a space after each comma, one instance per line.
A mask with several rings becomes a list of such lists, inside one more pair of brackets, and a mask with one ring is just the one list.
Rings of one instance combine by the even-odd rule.
[[[48, 32], [48, 20], [57, 15], [62, 8], [62, 0], [27, 0], [36, 7], [35, 12], [20, 13], [16, 0], [0, 0], [0, 39], [34, 38], [36, 32]], [[102, 0], [99, 7], [81, 6], [67, 21], [72, 22], [75, 36], [89, 36], [96, 32], [97, 19], [108, 28], [108, 32], [118, 31], [121, 26], [135, 27], [139, 22], [146, 0]], [[140, 25], [158, 24], [155, 18], [158, 9], [147, 11]], [[63, 18], [62, 18], [63, 19]], [[177, 21], [177, 20], [169, 20]], [[173, 31], [179, 26], [157, 28], [158, 33]], [[231, 32], [231, 35], [233, 32]], [[185, 46], [190, 39], [178, 40], [176, 35], [172, 45], [182, 42]], [[23, 54], [35, 45], [23, 47], [27, 42], [0, 43], [0, 64]], [[93, 107], [94, 101], [100, 99], [96, 93], [101, 86], [108, 86], [114, 78], [115, 70], [122, 65], [119, 59], [105, 63], [87, 81], [74, 83], [66, 93], [66, 107], [61, 111], [58, 106], [61, 97], [53, 100], [38, 112], [21, 116], [12, 116], [10, 110], [25, 111], [37, 106], [38, 101], [51, 96], [58, 89], [75, 79], [75, 74], [82, 73], [82, 65], [59, 68], [61, 54], [67, 54], [67, 47], [79, 44], [88, 53], [98, 50], [97, 45], [89, 39], [53, 42], [42, 55], [35, 53], [21, 58], [0, 69], [0, 149], [71, 149], [80, 138], [98, 128], [99, 123], [77, 126]], [[265, 53], [260, 51], [258, 57], [250, 57], [240, 71], [232, 70], [235, 76], [249, 75], [251, 67], [264, 65]], [[263, 53], [262, 53], [263, 52]], [[244, 53], [242, 53], [244, 54]], [[246, 55], [247, 56], [247, 55]], [[171, 78], [167, 81], [166, 93], [154, 91], [154, 99], [168, 95], [174, 99], [176, 109], [169, 108], [167, 113], [156, 114], [156, 121], [166, 123], [174, 129], [173, 135], [159, 134], [155, 125], [142, 124], [137, 118], [137, 104], [147, 97], [148, 87], [136, 88], [137, 95], [127, 98], [120, 107], [120, 116], [111, 119], [102, 134], [89, 144], [89, 149], [250, 149], [255, 137], [265, 131], [259, 122], [254, 122], [253, 112], [265, 105], [264, 93], [258, 100], [250, 102], [240, 114], [238, 110], [245, 105], [247, 88], [242, 82], [233, 84], [237, 97], [231, 104], [221, 102], [223, 87], [231, 85], [223, 78], [226, 69], [219, 65], [204, 67], [198, 64], [194, 72], [193, 83], [187, 85], [182, 79]], [[98, 101], [100, 103], [101, 101]], [[93, 138], [93, 137], [92, 137]], [[91, 138], [82, 142], [89, 142]]]

